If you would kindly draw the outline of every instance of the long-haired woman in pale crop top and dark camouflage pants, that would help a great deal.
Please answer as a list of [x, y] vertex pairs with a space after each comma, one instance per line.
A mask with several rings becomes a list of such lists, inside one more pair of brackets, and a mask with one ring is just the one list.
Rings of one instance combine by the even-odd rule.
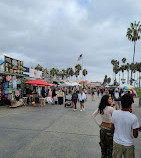
[[[101, 157], [112, 158], [113, 150], [113, 132], [112, 132], [112, 113], [114, 108], [112, 105], [111, 96], [104, 95], [101, 98], [98, 109], [93, 113], [94, 121], [100, 127], [100, 146], [101, 146]], [[96, 116], [100, 114], [102, 123], [98, 123]]]

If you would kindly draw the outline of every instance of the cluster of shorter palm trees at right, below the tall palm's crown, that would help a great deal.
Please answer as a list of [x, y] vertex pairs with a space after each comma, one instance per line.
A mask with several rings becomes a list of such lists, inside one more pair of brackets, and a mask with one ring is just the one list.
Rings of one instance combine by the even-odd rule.
[[[127, 81], [127, 84], [131, 84], [134, 82], [134, 84], [138, 83], [140, 86], [140, 79], [141, 79], [141, 62], [136, 63], [126, 63], [126, 58], [122, 58], [121, 64], [118, 60], [111, 60], [111, 64], [113, 65], [113, 72], [115, 74], [114, 77], [114, 84], [116, 85], [117, 82], [117, 75], [119, 74], [119, 84], [120, 81], [122, 81], [122, 84], [124, 84]], [[127, 72], [127, 80], [124, 78], [124, 72]], [[130, 74], [134, 74], [134, 77]], [[120, 79], [120, 73], [122, 73], [122, 78]]]

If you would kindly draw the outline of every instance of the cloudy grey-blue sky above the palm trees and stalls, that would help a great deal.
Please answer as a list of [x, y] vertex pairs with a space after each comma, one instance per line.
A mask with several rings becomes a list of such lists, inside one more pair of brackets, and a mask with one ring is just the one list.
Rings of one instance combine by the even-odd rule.
[[[50, 70], [74, 68], [83, 54], [86, 79], [102, 82], [113, 77], [112, 59], [132, 61], [126, 32], [135, 21], [141, 21], [140, 0], [0, 0], [0, 57]], [[140, 50], [141, 40], [135, 62]]]

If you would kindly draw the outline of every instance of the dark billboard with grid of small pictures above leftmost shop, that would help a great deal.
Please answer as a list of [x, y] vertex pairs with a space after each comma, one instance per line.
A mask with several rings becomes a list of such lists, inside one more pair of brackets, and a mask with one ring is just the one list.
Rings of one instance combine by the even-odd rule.
[[23, 74], [23, 61], [5, 56], [5, 72]]

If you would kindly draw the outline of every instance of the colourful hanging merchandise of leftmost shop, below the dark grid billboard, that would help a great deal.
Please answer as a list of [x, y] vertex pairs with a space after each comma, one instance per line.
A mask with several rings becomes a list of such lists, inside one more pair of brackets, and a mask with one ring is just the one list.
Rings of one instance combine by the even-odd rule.
[[0, 73], [0, 105], [13, 105], [23, 96], [23, 75]]

